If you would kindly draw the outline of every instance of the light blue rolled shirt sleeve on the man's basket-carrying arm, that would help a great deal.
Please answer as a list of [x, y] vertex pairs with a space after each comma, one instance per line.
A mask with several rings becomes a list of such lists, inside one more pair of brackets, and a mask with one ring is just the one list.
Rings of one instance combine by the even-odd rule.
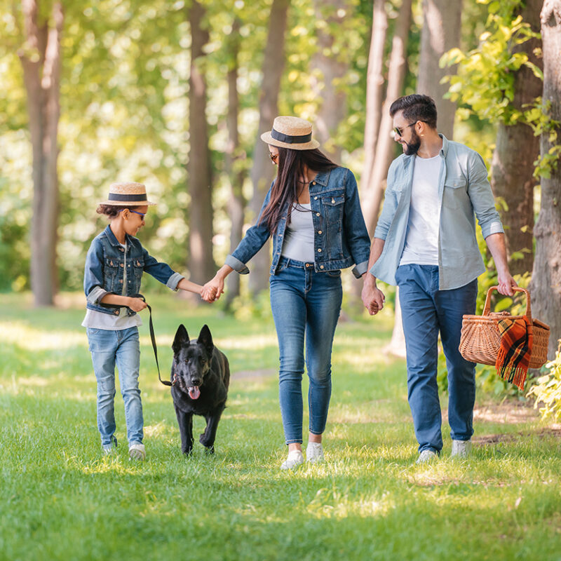
[[495, 201], [489, 180], [487, 168], [483, 158], [473, 152], [468, 159], [468, 196], [475, 210], [484, 238], [491, 234], [504, 232], [499, 212], [495, 208]]

